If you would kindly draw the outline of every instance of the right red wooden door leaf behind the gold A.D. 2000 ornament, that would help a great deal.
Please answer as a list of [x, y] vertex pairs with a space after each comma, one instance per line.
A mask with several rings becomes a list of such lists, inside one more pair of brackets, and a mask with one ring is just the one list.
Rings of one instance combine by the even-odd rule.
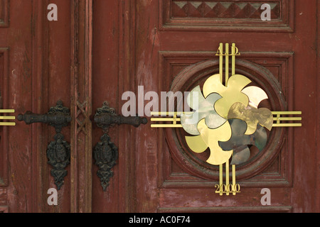
[[[271, 21], [262, 21], [262, 4], [270, 4]], [[219, 43], [236, 43], [241, 55], [235, 72], [267, 92], [269, 99], [262, 107], [302, 111], [302, 127], [272, 128], [262, 152], [250, 148], [250, 159], [237, 167], [241, 192], [235, 196], [215, 193], [218, 167], [205, 162], [209, 151], [196, 155], [188, 148], [181, 128], [151, 128], [149, 124], [138, 129], [114, 128], [111, 135], [119, 145], [119, 161], [107, 194], [93, 177], [92, 209], [319, 209], [319, 199], [314, 199], [319, 189], [319, 155], [314, 143], [319, 96], [316, 6], [316, 1], [306, 5], [285, 0], [95, 1], [93, 90], [105, 94], [93, 94], [94, 109], [107, 100], [120, 111], [127, 101], [121, 100], [122, 94], [138, 95], [138, 86], [143, 86], [144, 94], [190, 91], [219, 72], [215, 56]], [[95, 143], [99, 136], [95, 132]], [[264, 188], [270, 189], [270, 206], [261, 204]]]

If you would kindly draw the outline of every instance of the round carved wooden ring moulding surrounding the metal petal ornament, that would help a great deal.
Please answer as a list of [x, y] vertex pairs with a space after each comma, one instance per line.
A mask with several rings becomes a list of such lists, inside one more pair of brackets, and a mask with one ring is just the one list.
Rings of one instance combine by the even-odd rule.
[[[206, 79], [213, 74], [218, 74], [218, 72], [218, 60], [206, 60], [190, 65], [175, 77], [171, 85], [171, 92], [190, 92], [198, 85], [202, 88]], [[250, 79], [252, 83], [248, 86], [254, 85], [266, 92], [269, 99], [262, 101], [259, 108], [265, 107], [271, 111], [285, 111], [287, 109], [287, 102], [280, 92], [279, 82], [265, 67], [247, 60], [237, 60], [235, 73]], [[209, 149], [201, 154], [194, 153], [186, 144], [185, 136], [188, 133], [183, 128], [166, 128], [165, 132], [171, 155], [181, 169], [204, 179], [219, 179], [219, 167], [206, 162], [210, 155]], [[285, 129], [272, 128], [271, 131], [267, 131], [267, 134], [268, 140], [265, 148], [260, 151], [255, 146], [250, 146], [249, 160], [236, 166], [237, 179], [247, 179], [259, 174], [270, 166], [274, 158], [277, 157], [285, 139]]]

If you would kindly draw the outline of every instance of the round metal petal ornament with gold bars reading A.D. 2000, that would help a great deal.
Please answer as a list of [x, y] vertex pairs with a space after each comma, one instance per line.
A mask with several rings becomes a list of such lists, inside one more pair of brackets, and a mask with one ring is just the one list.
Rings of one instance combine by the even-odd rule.
[[[302, 114], [301, 111], [272, 112], [258, 108], [262, 100], [268, 99], [263, 89], [250, 86], [251, 80], [242, 74], [235, 74], [235, 57], [240, 55], [235, 43], [231, 46], [220, 43], [217, 56], [220, 57], [219, 74], [206, 79], [201, 90], [195, 87], [188, 94], [187, 103], [193, 112], [174, 113], [168, 121], [173, 124], [151, 124], [153, 128], [183, 128], [186, 143], [194, 153], [210, 150], [206, 162], [219, 166], [219, 184], [216, 193], [233, 195], [240, 192], [235, 182], [235, 166], [250, 159], [250, 148], [254, 145], [260, 151], [267, 144], [267, 130], [272, 127], [302, 126], [301, 123], [281, 123], [280, 121], [301, 121], [300, 117], [282, 117], [281, 115]], [[232, 57], [231, 76], [229, 77], [229, 57]], [[225, 74], [223, 59], [225, 58]], [[223, 77], [223, 75], [225, 77]], [[160, 113], [151, 113], [158, 116]], [[168, 116], [172, 113], [166, 113]], [[177, 118], [180, 116], [180, 118]], [[195, 120], [196, 119], [196, 120]], [[164, 118], [151, 118], [151, 121], [164, 121]], [[176, 123], [180, 121], [181, 124]], [[275, 122], [274, 122], [275, 121]], [[223, 183], [223, 165], [225, 165], [225, 183]], [[230, 165], [232, 183], [230, 184]]]

